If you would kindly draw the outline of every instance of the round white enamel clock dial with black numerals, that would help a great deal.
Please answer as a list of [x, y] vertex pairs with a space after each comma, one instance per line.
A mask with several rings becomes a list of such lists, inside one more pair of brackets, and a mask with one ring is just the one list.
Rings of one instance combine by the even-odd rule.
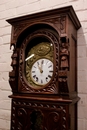
[[53, 63], [49, 59], [37, 60], [31, 68], [31, 78], [38, 85], [46, 85], [53, 76]]

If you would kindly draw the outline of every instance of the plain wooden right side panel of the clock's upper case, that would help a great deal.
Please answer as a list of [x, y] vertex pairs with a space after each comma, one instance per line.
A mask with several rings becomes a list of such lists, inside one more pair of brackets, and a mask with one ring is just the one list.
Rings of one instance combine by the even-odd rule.
[[69, 71], [68, 87], [70, 97], [77, 97], [77, 28], [72, 23], [70, 17], [68, 17], [69, 28], [67, 30], [67, 36], [69, 38]]

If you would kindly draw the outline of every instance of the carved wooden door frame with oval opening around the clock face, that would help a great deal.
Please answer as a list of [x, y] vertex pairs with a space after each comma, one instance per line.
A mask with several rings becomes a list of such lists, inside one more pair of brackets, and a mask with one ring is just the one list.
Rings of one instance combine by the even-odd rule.
[[[58, 79], [58, 67], [59, 67], [59, 36], [56, 33], [56, 31], [53, 31], [54, 29], [49, 29], [49, 28], [42, 28], [38, 29], [37, 31], [31, 33], [29, 35], [29, 39], [33, 39], [34, 37], [45, 37], [48, 39], [52, 44], [54, 44], [54, 77], [52, 79], [52, 82], [48, 84], [43, 89], [33, 89], [29, 86], [29, 84], [26, 82], [25, 76], [24, 76], [24, 57], [25, 57], [25, 49], [26, 45], [28, 43], [28, 38], [26, 38], [25, 42], [22, 43], [21, 49], [20, 49], [20, 57], [19, 57], [19, 92], [22, 93], [48, 93], [48, 94], [53, 94], [53, 93], [58, 93], [58, 82], [56, 83]], [[56, 35], [55, 35], [56, 34]], [[26, 42], [27, 41], [27, 42]], [[56, 60], [55, 60], [56, 58]]]

